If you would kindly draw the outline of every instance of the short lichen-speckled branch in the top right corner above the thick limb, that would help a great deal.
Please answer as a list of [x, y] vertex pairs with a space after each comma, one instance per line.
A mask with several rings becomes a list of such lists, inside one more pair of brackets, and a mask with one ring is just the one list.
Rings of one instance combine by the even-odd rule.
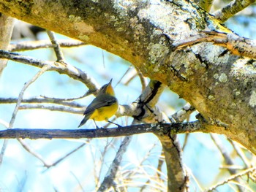
[[222, 7], [222, 9], [214, 12], [214, 17], [223, 23], [225, 20], [231, 18], [233, 15], [236, 15], [236, 13], [240, 12], [253, 3], [255, 3], [255, 0], [233, 0], [225, 7]]

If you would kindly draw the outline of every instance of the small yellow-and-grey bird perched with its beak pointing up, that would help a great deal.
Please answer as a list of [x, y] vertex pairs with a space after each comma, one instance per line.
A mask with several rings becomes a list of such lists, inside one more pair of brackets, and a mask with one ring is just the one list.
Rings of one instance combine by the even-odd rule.
[[[108, 84], [102, 86], [99, 89], [99, 93], [91, 101], [91, 104], [86, 108], [86, 111], [83, 113], [84, 118], [79, 124], [78, 127], [83, 126], [87, 120], [92, 119], [94, 120], [95, 126], [99, 128], [95, 122], [95, 120], [106, 120], [109, 123], [113, 123], [108, 118], [115, 115], [116, 111], [118, 110], [118, 100], [116, 99], [115, 92], [111, 85], [112, 79]], [[116, 123], [113, 123], [119, 126]]]

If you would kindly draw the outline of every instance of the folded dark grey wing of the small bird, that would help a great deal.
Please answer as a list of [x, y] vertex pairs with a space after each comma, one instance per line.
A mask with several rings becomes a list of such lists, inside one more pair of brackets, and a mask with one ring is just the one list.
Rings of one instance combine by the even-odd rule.
[[86, 111], [83, 113], [83, 115], [89, 114], [94, 112], [94, 110], [97, 110], [101, 107], [107, 107], [112, 104], [115, 104], [117, 101], [116, 97], [110, 96], [110, 95], [99, 95], [97, 96], [93, 101], [91, 101], [91, 104], [86, 108]]

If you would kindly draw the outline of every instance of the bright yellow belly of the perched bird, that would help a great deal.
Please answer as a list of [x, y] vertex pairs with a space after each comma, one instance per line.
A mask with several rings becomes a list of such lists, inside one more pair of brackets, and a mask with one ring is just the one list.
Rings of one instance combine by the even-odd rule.
[[108, 118], [111, 118], [113, 115], [115, 115], [117, 109], [118, 109], [118, 102], [116, 102], [116, 104], [113, 104], [107, 107], [101, 107], [94, 111], [90, 119], [94, 119], [97, 121], [108, 120]]

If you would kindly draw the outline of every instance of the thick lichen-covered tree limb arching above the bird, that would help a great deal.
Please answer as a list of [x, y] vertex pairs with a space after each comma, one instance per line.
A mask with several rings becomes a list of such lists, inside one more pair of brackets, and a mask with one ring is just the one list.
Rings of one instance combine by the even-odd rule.
[[204, 42], [173, 50], [200, 31], [225, 31], [188, 1], [0, 1], [0, 11], [101, 47], [167, 85], [225, 134], [256, 154], [255, 61]]

